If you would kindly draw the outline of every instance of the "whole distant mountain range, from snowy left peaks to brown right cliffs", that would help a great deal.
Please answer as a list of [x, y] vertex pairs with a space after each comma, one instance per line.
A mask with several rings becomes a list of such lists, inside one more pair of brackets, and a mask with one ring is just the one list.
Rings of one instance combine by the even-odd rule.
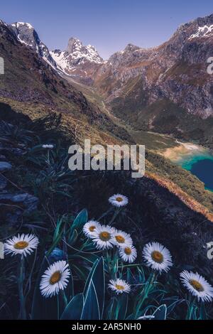
[[[188, 131], [182, 123], [185, 113], [202, 119], [213, 116], [213, 76], [207, 73], [207, 59], [213, 55], [213, 14], [183, 24], [158, 47], [129, 44], [107, 61], [77, 38], [70, 38], [67, 50], [49, 51], [30, 23], [9, 28], [60, 75], [95, 87], [116, 116], [138, 129], [171, 132], [173, 127], [172, 132], [181, 135]], [[162, 126], [165, 122], [171, 125], [168, 129]], [[192, 139], [209, 132], [204, 124], [196, 134], [196, 126], [190, 130]]]

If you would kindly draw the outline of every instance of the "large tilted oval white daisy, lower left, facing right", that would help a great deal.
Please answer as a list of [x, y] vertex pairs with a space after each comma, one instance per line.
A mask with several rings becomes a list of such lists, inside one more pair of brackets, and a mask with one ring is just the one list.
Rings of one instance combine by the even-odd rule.
[[69, 264], [65, 261], [58, 261], [50, 264], [40, 281], [40, 292], [45, 297], [52, 297], [64, 290], [70, 277]]

